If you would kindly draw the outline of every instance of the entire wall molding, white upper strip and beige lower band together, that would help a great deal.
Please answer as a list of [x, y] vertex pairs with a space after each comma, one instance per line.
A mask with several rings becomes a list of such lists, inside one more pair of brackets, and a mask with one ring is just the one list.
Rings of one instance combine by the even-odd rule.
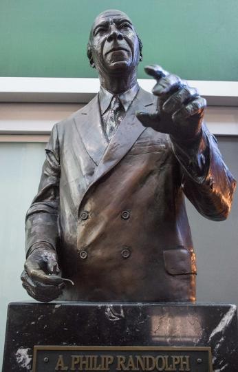
[[[153, 79], [139, 79], [151, 91]], [[238, 136], [238, 82], [188, 81], [208, 101], [205, 121], [219, 136]], [[0, 77], [0, 142], [47, 142], [54, 123], [89, 102], [98, 79]]]

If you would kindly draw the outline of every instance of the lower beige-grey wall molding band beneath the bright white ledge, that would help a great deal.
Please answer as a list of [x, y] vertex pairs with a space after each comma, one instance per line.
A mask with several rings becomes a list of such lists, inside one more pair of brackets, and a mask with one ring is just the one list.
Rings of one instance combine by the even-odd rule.
[[[54, 123], [83, 107], [81, 103], [0, 103], [0, 142], [45, 142]], [[238, 136], [238, 107], [208, 106], [210, 132]]]

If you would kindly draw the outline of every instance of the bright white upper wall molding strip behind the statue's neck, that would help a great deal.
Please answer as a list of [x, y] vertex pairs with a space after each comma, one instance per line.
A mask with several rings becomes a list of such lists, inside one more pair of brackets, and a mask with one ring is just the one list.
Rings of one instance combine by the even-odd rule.
[[[153, 79], [138, 79], [151, 92]], [[188, 81], [208, 105], [238, 106], [237, 81]], [[0, 77], [0, 102], [87, 103], [99, 90], [98, 79]]]

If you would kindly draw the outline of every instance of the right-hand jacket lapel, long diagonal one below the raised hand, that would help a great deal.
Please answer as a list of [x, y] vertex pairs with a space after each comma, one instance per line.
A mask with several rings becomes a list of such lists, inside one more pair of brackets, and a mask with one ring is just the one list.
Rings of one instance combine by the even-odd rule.
[[111, 141], [96, 168], [92, 183], [95, 183], [96, 180], [115, 167], [127, 152], [129, 152], [129, 149], [131, 149], [140, 134], [144, 132], [146, 128], [140, 123], [140, 121], [138, 121], [135, 112], [137, 110], [143, 110], [143, 106], [149, 105], [153, 105], [153, 96], [140, 88], [136, 98], [131, 104], [131, 107], [127, 110], [125, 118], [120, 123], [113, 138], [111, 138]]

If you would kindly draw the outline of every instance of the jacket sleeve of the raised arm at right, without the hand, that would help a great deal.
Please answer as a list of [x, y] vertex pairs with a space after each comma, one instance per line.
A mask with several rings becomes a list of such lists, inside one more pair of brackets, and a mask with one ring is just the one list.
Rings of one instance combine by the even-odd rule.
[[236, 181], [223, 161], [215, 136], [203, 124], [199, 141], [189, 145], [176, 143], [172, 138], [171, 141], [182, 168], [184, 194], [202, 216], [225, 220]]

